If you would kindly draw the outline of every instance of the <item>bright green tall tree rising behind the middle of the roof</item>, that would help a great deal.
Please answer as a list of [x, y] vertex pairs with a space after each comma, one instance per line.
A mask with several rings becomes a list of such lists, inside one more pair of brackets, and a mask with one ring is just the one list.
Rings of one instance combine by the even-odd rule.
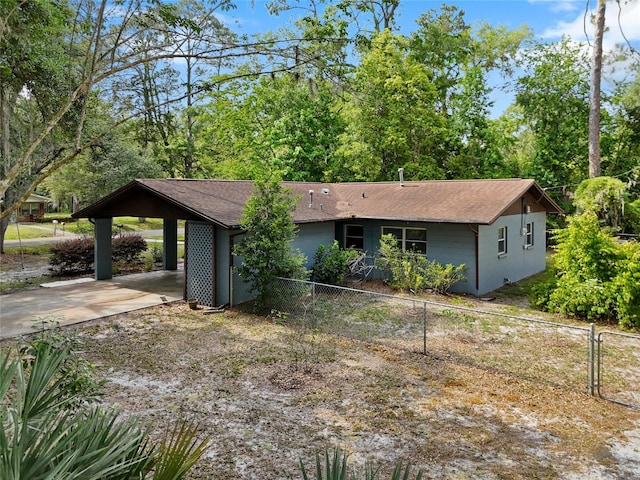
[[389, 30], [373, 39], [356, 69], [353, 92], [343, 107], [347, 127], [336, 180], [392, 180], [398, 168], [410, 178], [444, 178], [438, 165], [443, 145], [436, 88], [409, 41]]

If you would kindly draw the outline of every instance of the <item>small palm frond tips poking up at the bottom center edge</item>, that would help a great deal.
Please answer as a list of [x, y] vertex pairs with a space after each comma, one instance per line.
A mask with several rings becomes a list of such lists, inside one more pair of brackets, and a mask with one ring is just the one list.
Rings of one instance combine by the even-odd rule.
[[[324, 460], [324, 461], [323, 461]], [[304, 464], [300, 461], [300, 470], [302, 472], [302, 480], [310, 480]], [[379, 468], [375, 468], [371, 462], [367, 462], [364, 468], [365, 480], [376, 480], [378, 478]], [[349, 475], [348, 455], [343, 453], [339, 447], [335, 448], [331, 456], [328, 451], [324, 453], [324, 459], [320, 455], [316, 455], [316, 476], [315, 480], [357, 480], [359, 478], [355, 470]], [[411, 464], [406, 467], [402, 463], [397, 463], [391, 480], [409, 480], [411, 477]], [[422, 479], [422, 470], [418, 470], [415, 480]]]

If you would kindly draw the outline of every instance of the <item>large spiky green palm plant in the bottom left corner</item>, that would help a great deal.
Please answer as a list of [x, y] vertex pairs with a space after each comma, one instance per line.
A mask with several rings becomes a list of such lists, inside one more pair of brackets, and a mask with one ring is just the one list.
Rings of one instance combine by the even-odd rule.
[[[0, 357], [0, 478], [178, 480], [204, 453], [188, 423], [158, 447], [136, 419], [88, 402], [65, 370], [72, 347], [40, 340]], [[89, 382], [91, 383], [91, 382]]]

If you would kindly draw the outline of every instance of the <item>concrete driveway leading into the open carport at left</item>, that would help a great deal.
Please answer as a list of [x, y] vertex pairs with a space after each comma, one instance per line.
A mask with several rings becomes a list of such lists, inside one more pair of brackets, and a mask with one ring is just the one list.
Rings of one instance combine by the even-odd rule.
[[37, 290], [0, 295], [0, 338], [34, 333], [45, 320], [69, 325], [183, 300], [181, 267], [111, 280], [52, 282]]

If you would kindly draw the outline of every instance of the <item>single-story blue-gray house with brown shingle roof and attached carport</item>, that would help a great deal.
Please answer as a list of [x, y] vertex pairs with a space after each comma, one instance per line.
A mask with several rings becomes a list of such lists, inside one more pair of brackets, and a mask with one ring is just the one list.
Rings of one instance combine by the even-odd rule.
[[[544, 270], [546, 216], [562, 213], [530, 179], [283, 185], [298, 198], [293, 246], [309, 263], [319, 245], [334, 239], [373, 255], [380, 236], [392, 233], [405, 249], [465, 264], [467, 279], [454, 290], [478, 296]], [[251, 181], [134, 180], [73, 216], [95, 223], [97, 280], [112, 275], [113, 217], [164, 219], [163, 268], [169, 270], [177, 268], [177, 221], [186, 220], [185, 299], [236, 304], [249, 299], [234, 279], [241, 259], [232, 252], [252, 193]]]

